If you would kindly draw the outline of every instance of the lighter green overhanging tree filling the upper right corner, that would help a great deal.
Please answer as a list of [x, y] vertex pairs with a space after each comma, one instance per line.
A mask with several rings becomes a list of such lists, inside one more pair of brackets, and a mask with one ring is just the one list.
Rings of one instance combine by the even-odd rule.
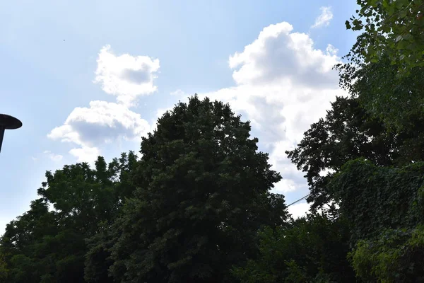
[[346, 28], [363, 33], [346, 55], [348, 62], [336, 67], [341, 86], [391, 130], [411, 129], [424, 113], [424, 1], [357, 3], [358, 16]]

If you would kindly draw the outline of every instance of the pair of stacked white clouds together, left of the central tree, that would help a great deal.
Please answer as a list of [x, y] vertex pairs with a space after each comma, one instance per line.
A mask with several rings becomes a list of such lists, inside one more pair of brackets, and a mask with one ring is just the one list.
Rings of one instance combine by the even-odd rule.
[[95, 100], [88, 108], [77, 107], [63, 125], [52, 129], [49, 139], [70, 142], [78, 147], [69, 151], [80, 161], [93, 161], [100, 147], [118, 139], [133, 140], [150, 130], [148, 122], [129, 108], [138, 96], [156, 91], [153, 84], [160, 64], [158, 59], [129, 54], [114, 55], [110, 46], [98, 54], [95, 83], [117, 97], [117, 103]]

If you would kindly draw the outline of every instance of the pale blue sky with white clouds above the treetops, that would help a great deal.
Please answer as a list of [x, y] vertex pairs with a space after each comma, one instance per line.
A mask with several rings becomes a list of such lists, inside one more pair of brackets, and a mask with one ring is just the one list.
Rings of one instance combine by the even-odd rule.
[[[286, 203], [307, 195], [285, 155], [330, 102], [332, 69], [356, 35], [355, 1], [0, 1], [0, 233], [28, 210], [46, 171], [139, 151], [141, 137], [197, 93], [252, 122], [283, 180]], [[293, 216], [308, 204], [289, 207]]]

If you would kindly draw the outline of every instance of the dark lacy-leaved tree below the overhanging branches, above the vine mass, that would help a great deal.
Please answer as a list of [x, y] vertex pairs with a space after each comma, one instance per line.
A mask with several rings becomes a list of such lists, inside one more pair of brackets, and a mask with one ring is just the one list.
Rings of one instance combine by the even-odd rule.
[[325, 119], [312, 124], [298, 146], [285, 153], [306, 173], [310, 186], [307, 201], [316, 209], [334, 200], [328, 183], [350, 160], [364, 157], [379, 166], [424, 160], [421, 125], [423, 119], [416, 119], [411, 129], [394, 133], [367, 114], [358, 98], [336, 98]]

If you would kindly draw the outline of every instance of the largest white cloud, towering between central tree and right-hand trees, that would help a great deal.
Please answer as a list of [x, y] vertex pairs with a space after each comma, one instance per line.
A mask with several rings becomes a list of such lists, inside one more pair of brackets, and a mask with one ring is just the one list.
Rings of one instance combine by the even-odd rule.
[[199, 94], [230, 103], [252, 122], [259, 146], [266, 147], [273, 169], [283, 176], [274, 188], [277, 192], [307, 187], [305, 174], [285, 151], [293, 149], [310, 125], [324, 117], [336, 96], [346, 95], [332, 69], [340, 62], [337, 51], [332, 45], [326, 50], [315, 48], [309, 35], [293, 32], [289, 23], [269, 25], [242, 52], [230, 56], [236, 86]]

